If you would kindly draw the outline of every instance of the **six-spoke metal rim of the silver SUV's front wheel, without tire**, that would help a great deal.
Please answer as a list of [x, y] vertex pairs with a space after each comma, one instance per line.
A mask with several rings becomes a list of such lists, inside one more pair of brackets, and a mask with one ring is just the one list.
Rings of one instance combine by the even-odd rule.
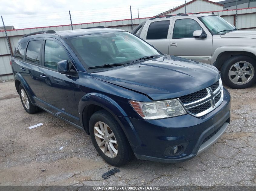
[[234, 84], [246, 84], [254, 76], [254, 67], [250, 62], [236, 62], [231, 66], [228, 77]]

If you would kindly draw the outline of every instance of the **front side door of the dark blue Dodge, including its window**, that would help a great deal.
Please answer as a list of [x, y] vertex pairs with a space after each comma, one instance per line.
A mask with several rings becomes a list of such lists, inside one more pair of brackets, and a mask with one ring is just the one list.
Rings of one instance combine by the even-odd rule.
[[62, 43], [56, 39], [45, 38], [43, 47], [40, 78], [47, 102], [45, 108], [72, 123], [81, 125], [75, 101], [75, 77], [57, 72], [57, 63], [71, 58]]

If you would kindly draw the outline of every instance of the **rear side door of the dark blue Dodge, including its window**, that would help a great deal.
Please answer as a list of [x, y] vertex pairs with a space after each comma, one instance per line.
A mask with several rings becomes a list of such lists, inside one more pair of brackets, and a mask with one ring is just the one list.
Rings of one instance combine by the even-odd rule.
[[[40, 100], [45, 100], [42, 90], [39, 70], [41, 68], [41, 49], [43, 38], [30, 39], [27, 43], [25, 56], [20, 59], [20, 74], [25, 79], [26, 84], [32, 90], [32, 94]], [[20, 57], [21, 58], [21, 57]], [[27, 89], [25, 87], [25, 89]], [[28, 89], [27, 89], [28, 90]], [[40, 104], [37, 100], [36, 103]], [[40, 104], [41, 105], [41, 104]]]

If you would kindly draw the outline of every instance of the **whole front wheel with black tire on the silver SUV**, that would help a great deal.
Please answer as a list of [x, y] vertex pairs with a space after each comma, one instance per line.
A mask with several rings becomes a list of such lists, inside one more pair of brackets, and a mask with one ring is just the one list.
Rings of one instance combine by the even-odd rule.
[[248, 88], [256, 82], [255, 72], [256, 60], [249, 56], [232, 56], [222, 65], [221, 78], [231, 88]]

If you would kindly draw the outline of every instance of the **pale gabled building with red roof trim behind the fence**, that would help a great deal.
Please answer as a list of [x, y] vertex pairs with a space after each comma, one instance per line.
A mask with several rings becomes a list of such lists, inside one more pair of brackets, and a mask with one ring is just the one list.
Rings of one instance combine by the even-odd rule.
[[175, 7], [156, 16], [174, 15], [185, 12], [199, 13], [205, 11], [222, 11], [223, 7], [224, 5], [221, 5], [220, 3], [215, 3], [208, 0], [192, 0], [186, 4]]

